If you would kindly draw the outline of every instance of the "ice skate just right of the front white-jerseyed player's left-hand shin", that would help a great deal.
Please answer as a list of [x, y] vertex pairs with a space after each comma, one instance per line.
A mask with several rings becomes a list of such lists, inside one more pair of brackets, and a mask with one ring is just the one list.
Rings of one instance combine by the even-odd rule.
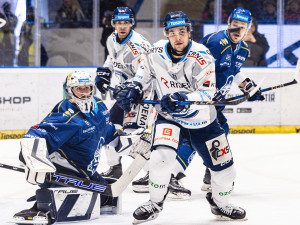
[[169, 192], [167, 199], [169, 200], [188, 200], [191, 197], [191, 191], [184, 188], [182, 182], [180, 181], [185, 175], [183, 173], [178, 173], [176, 177], [172, 174], [169, 183]]

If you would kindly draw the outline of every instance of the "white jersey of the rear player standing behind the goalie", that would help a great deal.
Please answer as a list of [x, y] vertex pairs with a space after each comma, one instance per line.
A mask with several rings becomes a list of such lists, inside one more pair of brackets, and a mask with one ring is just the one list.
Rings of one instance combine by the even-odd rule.
[[149, 49], [150, 43], [141, 34], [131, 30], [127, 38], [117, 42], [116, 33], [113, 32], [106, 42], [109, 55], [104, 63], [113, 76], [118, 77], [120, 83], [134, 77], [141, 55]]

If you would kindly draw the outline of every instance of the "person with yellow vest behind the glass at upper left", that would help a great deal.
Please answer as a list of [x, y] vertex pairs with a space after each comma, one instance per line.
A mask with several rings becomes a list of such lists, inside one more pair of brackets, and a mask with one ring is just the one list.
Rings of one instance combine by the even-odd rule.
[[[41, 28], [44, 19], [41, 18]], [[20, 33], [20, 52], [18, 55], [19, 66], [35, 66], [35, 43], [33, 41], [34, 35], [34, 8], [30, 7], [27, 10], [27, 18], [23, 23]], [[46, 66], [48, 55], [45, 47], [41, 44], [41, 66]]]

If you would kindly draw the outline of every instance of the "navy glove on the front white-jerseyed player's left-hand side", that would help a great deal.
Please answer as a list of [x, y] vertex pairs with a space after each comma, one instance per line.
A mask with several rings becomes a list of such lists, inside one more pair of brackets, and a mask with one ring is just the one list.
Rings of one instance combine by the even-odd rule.
[[117, 90], [114, 91], [114, 98], [125, 112], [130, 112], [131, 103], [143, 97], [142, 85], [136, 81], [125, 82], [124, 85], [125, 87], [120, 85]]

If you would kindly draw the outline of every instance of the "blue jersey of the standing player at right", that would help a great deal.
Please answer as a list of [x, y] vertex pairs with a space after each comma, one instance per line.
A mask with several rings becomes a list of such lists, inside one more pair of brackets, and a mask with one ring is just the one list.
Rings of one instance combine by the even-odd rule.
[[[209, 34], [200, 43], [204, 44], [216, 59], [216, 87], [225, 98], [231, 88], [233, 78], [240, 73], [240, 68], [248, 57], [248, 45], [241, 41], [233, 51], [226, 30]], [[238, 85], [242, 81], [239, 79]]]

